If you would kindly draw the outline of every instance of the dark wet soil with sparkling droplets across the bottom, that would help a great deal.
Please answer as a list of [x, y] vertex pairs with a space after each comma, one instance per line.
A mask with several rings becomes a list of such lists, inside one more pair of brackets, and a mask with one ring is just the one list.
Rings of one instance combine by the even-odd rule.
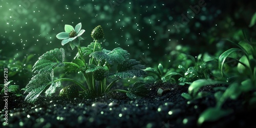
[[[6, 127], [256, 127], [256, 112], [248, 110], [242, 98], [228, 100], [223, 105], [223, 108], [233, 109], [229, 116], [199, 126], [199, 115], [216, 104], [214, 95], [188, 102], [181, 96], [187, 93], [188, 86], [156, 83], [147, 84], [147, 87], [151, 90], [149, 96], [137, 100], [113, 93], [96, 99], [40, 97], [36, 103], [29, 104], [22, 96], [10, 96]], [[157, 96], [159, 87], [170, 91]], [[201, 91], [214, 93], [212, 86]], [[4, 108], [2, 97], [1, 107]], [[4, 110], [1, 111], [0, 127], [4, 124], [3, 114]]]

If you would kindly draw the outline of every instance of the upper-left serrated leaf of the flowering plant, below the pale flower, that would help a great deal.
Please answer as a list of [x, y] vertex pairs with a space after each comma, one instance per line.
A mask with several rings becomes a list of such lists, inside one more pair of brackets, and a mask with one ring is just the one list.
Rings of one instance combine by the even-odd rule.
[[48, 51], [38, 58], [32, 72], [51, 71], [57, 66], [63, 66], [64, 58], [65, 51], [62, 48]]

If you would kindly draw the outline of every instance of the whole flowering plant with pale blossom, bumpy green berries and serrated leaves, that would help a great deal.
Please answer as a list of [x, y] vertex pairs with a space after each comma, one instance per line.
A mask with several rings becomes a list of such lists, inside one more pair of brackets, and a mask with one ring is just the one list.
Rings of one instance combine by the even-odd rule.
[[[145, 66], [140, 65], [140, 62], [135, 59], [129, 59], [129, 53], [122, 48], [115, 48], [112, 51], [101, 48], [99, 39], [104, 37], [103, 29], [101, 26], [97, 26], [91, 36], [94, 42], [88, 45], [88, 47], [80, 47], [80, 37], [84, 30], [81, 30], [81, 23], [77, 24], [75, 28], [70, 25], [65, 25], [65, 32], [61, 32], [56, 35], [61, 41], [62, 45], [70, 42], [72, 49], [78, 48], [72, 62], [65, 62], [65, 50], [54, 49], [46, 52], [35, 62], [33, 66], [33, 72], [35, 75], [31, 78], [27, 84], [26, 92], [29, 93], [25, 98], [26, 101], [34, 102], [37, 97], [45, 92], [46, 97], [55, 93], [55, 89], [60, 87], [61, 81], [71, 81], [76, 86], [79, 86], [83, 91], [83, 96], [86, 98], [93, 98], [102, 96], [105, 93], [110, 92], [111, 87], [120, 78], [142, 76], [146, 74], [143, 69]], [[87, 57], [87, 58], [86, 58]], [[64, 67], [66, 74], [81, 73], [86, 79], [86, 85], [71, 79], [71, 78], [59, 78], [54, 79], [54, 68]], [[114, 70], [114, 71], [113, 71]], [[107, 83], [107, 79], [114, 78], [110, 84]], [[142, 83], [133, 84], [126, 90], [112, 90], [116, 92], [126, 93], [127, 96], [145, 96], [147, 89]], [[67, 92], [66, 90], [61, 92]]]

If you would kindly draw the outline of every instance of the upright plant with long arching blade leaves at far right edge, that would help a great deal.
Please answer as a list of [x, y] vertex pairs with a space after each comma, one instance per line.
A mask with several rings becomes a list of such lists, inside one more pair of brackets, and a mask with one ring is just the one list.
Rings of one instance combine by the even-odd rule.
[[[226, 65], [226, 59], [230, 59], [238, 62], [236, 75], [226, 75], [227, 82], [229, 82], [229, 88], [222, 94], [218, 106], [221, 106], [227, 98], [237, 99], [240, 94], [248, 95], [250, 102], [255, 96], [251, 92], [256, 91], [256, 43], [249, 40], [245, 31], [243, 31], [244, 40], [232, 44], [238, 48], [231, 48], [220, 55], [219, 69], [224, 76], [224, 65]], [[232, 56], [232, 53], [234, 56]], [[221, 94], [220, 94], [221, 95]]]

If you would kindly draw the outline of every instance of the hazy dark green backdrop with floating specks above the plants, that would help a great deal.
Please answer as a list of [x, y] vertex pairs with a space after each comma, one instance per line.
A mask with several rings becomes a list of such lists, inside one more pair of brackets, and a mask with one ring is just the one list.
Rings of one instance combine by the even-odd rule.
[[[205, 52], [219, 56], [233, 47], [224, 38], [242, 40], [242, 29], [248, 31], [250, 37], [256, 34], [255, 26], [248, 27], [256, 12], [255, 1], [205, 1], [205, 7], [198, 13], [190, 6], [197, 6], [199, 1], [114, 2], [116, 5], [113, 1], [101, 0], [0, 0], [1, 59], [22, 61], [32, 54], [34, 57], [29, 63], [33, 65], [43, 53], [64, 48], [66, 61], [71, 61], [77, 49], [72, 51], [69, 45], [61, 46], [61, 40], [55, 37], [64, 31], [65, 24], [82, 23], [82, 29], [86, 30], [82, 37], [86, 40], [81, 46], [93, 41], [91, 31], [101, 25], [105, 33], [100, 40], [103, 48], [121, 47], [129, 51], [130, 58], [140, 60], [146, 67], [167, 61], [164, 59], [173, 50], [193, 56]], [[177, 26], [172, 26], [183, 23], [182, 14], [190, 15], [189, 22], [179, 26], [178, 31]], [[23, 79], [23, 83], [17, 80], [19, 76], [12, 80], [25, 86], [31, 78], [29, 71], [27, 73], [28, 78]]]

